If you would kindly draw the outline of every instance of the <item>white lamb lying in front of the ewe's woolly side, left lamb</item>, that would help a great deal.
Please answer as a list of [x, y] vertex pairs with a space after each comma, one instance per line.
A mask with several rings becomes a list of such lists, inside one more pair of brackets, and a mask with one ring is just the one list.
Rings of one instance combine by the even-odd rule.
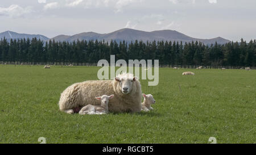
[[107, 114], [109, 112], [109, 100], [112, 99], [114, 95], [102, 95], [101, 97], [96, 97], [97, 100], [101, 100], [100, 106], [93, 106], [92, 104], [88, 104], [87, 106], [84, 106], [80, 111], [79, 114], [85, 115], [93, 115], [93, 114]]

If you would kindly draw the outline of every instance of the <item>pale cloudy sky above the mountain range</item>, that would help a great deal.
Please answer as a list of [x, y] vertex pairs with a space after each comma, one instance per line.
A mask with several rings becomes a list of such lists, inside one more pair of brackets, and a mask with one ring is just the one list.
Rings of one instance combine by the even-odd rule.
[[1, 0], [0, 32], [51, 38], [133, 28], [250, 41], [256, 39], [255, 8], [255, 0]]

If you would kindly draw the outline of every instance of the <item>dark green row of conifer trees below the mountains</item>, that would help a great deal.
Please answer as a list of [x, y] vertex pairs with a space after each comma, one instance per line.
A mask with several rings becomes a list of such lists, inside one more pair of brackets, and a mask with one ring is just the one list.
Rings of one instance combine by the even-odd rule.
[[98, 41], [11, 39], [0, 41], [0, 61], [14, 63], [97, 63], [110, 55], [115, 59], [159, 60], [160, 65], [208, 65], [208, 66], [255, 66], [256, 40], [246, 43], [230, 42], [224, 45], [205, 45], [198, 41], [182, 43], [177, 41]]

